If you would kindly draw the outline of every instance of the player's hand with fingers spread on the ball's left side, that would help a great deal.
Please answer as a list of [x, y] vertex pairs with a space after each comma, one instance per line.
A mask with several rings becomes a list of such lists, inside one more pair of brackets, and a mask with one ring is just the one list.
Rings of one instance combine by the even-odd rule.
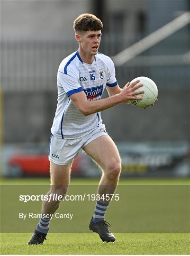
[[140, 80], [136, 80], [135, 82], [127, 82], [127, 84], [124, 86], [123, 90], [119, 93], [119, 96], [121, 97], [121, 102], [125, 103], [131, 103], [133, 100], [142, 100], [142, 97], [137, 97], [139, 94], [143, 94], [144, 91], [136, 91], [136, 89], [143, 86], [142, 83], [136, 85]]

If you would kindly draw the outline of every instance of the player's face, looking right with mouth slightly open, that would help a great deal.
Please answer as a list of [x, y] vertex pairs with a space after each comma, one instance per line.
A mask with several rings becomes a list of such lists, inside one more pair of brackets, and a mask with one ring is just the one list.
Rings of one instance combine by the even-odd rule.
[[81, 51], [86, 55], [96, 55], [100, 46], [101, 30], [86, 31], [78, 40]]

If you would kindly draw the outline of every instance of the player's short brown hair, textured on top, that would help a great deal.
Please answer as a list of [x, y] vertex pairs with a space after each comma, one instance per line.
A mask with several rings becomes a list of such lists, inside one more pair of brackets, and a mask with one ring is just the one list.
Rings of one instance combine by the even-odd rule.
[[98, 31], [102, 30], [103, 24], [99, 18], [91, 13], [83, 13], [74, 20], [73, 24], [75, 32], [79, 31]]

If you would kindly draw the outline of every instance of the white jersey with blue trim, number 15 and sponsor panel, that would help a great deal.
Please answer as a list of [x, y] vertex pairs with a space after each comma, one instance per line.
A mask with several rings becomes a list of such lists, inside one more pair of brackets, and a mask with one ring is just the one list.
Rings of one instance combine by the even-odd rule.
[[98, 53], [92, 64], [83, 63], [79, 52], [61, 62], [57, 73], [58, 103], [51, 132], [55, 137], [74, 139], [97, 127], [105, 128], [100, 112], [84, 116], [69, 96], [84, 91], [88, 101], [100, 100], [106, 86], [116, 86], [112, 60]]

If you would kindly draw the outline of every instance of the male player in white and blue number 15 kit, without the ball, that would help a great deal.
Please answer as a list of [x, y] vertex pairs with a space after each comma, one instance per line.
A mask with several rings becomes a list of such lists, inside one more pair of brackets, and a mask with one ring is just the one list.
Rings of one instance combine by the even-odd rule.
[[[141, 100], [136, 91], [143, 86], [138, 81], [121, 89], [115, 77], [112, 60], [98, 52], [103, 24], [92, 14], [81, 14], [74, 21], [79, 49], [61, 62], [57, 73], [58, 103], [51, 128], [49, 147], [51, 190], [64, 197], [70, 182], [73, 158], [82, 148], [100, 165], [102, 177], [98, 187], [100, 197], [114, 193], [121, 172], [118, 149], [106, 132], [100, 112], [122, 102]], [[109, 97], [101, 99], [108, 91]], [[49, 214], [54, 214], [60, 201], [43, 201], [42, 217], [28, 244], [42, 244], [49, 230]], [[89, 228], [100, 235], [102, 241], [115, 241], [104, 216], [109, 200], [96, 201]]]

